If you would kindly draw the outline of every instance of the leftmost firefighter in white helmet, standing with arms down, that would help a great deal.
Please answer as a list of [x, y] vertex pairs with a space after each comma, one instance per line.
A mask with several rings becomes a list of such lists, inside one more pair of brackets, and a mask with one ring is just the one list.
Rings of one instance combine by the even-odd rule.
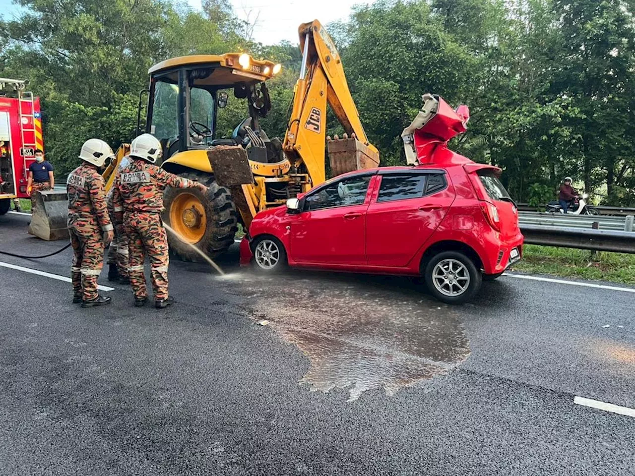
[[113, 156], [112, 149], [103, 140], [87, 140], [79, 152], [84, 162], [70, 173], [66, 182], [70, 244], [74, 253], [70, 268], [73, 302], [81, 302], [81, 307], [110, 303], [109, 297], [97, 293], [97, 277], [104, 265], [104, 246], [113, 238], [104, 178], [99, 169]]

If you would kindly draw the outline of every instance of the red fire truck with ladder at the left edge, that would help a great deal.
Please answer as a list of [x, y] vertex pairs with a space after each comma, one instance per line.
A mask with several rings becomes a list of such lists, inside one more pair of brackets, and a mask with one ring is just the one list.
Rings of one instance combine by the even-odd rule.
[[27, 170], [35, 151], [44, 150], [39, 98], [28, 81], [0, 78], [0, 215], [11, 200], [27, 198]]

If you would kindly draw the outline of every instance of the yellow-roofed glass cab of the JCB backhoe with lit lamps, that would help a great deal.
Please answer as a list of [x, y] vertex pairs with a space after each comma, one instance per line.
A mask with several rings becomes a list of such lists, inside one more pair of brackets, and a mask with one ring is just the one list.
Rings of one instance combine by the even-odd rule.
[[[161, 141], [164, 168], [180, 172], [182, 166], [192, 167], [194, 155], [188, 151], [198, 151], [199, 157], [202, 151], [218, 145], [240, 145], [252, 161], [278, 161], [281, 148], [271, 144], [258, 119], [271, 109], [265, 81], [280, 69], [279, 64], [253, 60], [246, 53], [181, 56], [150, 68], [145, 131]], [[232, 107], [219, 116], [229, 94], [246, 100], [248, 110], [239, 112]], [[229, 117], [234, 123], [220, 117]]]

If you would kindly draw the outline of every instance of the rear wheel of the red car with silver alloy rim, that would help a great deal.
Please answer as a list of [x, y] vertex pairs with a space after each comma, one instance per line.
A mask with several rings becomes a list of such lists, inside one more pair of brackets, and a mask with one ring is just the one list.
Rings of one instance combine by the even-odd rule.
[[443, 251], [425, 265], [424, 280], [439, 301], [460, 304], [471, 300], [481, 288], [482, 275], [474, 262], [460, 251]]

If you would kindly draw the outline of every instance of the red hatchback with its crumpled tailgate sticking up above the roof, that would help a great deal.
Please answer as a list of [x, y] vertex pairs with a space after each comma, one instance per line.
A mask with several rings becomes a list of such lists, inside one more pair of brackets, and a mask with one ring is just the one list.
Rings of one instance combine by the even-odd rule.
[[418, 165], [340, 175], [258, 213], [241, 242], [241, 264], [422, 275], [436, 298], [460, 303], [518, 261], [523, 235], [500, 169], [446, 147], [465, 131], [467, 107], [455, 112], [426, 96], [403, 135]]

